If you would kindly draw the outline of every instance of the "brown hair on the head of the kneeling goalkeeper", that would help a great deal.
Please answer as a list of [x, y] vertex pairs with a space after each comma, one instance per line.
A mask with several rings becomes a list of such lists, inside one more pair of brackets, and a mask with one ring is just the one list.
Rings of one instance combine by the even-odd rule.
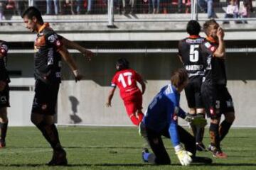
[[171, 84], [176, 88], [184, 84], [188, 80], [186, 69], [177, 69], [171, 74]]

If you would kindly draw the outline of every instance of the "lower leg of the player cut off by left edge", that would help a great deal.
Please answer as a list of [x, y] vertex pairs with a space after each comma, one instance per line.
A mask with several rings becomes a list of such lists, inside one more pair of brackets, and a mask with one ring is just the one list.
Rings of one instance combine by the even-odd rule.
[[0, 148], [6, 147], [6, 133], [8, 128], [7, 108], [0, 108]]

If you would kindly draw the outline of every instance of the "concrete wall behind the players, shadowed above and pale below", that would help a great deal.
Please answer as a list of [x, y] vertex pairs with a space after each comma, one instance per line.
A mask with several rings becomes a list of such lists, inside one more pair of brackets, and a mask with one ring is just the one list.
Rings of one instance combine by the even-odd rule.
[[[236, 126], [256, 127], [255, 55], [228, 53], [228, 89], [235, 103]], [[110, 81], [115, 72], [115, 61], [119, 57], [127, 57], [131, 67], [147, 81], [143, 111], [159, 89], [169, 83], [171, 72], [181, 67], [175, 54], [99, 54], [90, 63], [75, 54], [75, 60], [85, 79], [75, 83], [67, 65], [63, 64], [63, 83], [60, 85], [58, 98], [59, 124], [132, 125], [118, 90], [114, 94], [112, 108], [105, 107]], [[9, 55], [9, 69], [22, 71], [21, 77], [11, 77], [11, 86], [29, 87], [27, 91], [11, 91], [10, 125], [31, 125], [33, 54]], [[188, 111], [183, 94], [181, 107]], [[186, 123], [181, 121], [181, 124]]]

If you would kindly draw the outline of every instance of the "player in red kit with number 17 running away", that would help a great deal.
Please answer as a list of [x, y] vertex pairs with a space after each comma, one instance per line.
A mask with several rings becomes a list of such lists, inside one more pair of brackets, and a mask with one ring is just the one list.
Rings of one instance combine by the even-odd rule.
[[[118, 86], [120, 96], [127, 110], [127, 115], [132, 120], [132, 123], [138, 126], [144, 117], [142, 113], [142, 95], [144, 94], [146, 85], [142, 77], [134, 69], [129, 68], [129, 62], [125, 58], [117, 60], [116, 68], [117, 72], [112, 79], [112, 89], [110, 89], [106, 106], [111, 106], [114, 91]], [[137, 86], [137, 82], [142, 85], [142, 91]]]

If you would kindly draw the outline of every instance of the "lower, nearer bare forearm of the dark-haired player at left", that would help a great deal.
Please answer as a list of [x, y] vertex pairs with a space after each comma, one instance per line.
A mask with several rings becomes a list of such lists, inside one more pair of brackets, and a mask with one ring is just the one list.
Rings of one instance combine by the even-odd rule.
[[63, 45], [62, 47], [60, 47], [58, 52], [60, 53], [61, 57], [63, 57], [63, 60], [68, 64], [68, 66], [72, 70], [75, 76], [75, 81], [80, 81], [80, 79], [82, 79], [82, 74], [78, 72], [78, 67], [75, 64], [73, 57], [70, 56], [70, 53], [68, 52], [67, 48]]

